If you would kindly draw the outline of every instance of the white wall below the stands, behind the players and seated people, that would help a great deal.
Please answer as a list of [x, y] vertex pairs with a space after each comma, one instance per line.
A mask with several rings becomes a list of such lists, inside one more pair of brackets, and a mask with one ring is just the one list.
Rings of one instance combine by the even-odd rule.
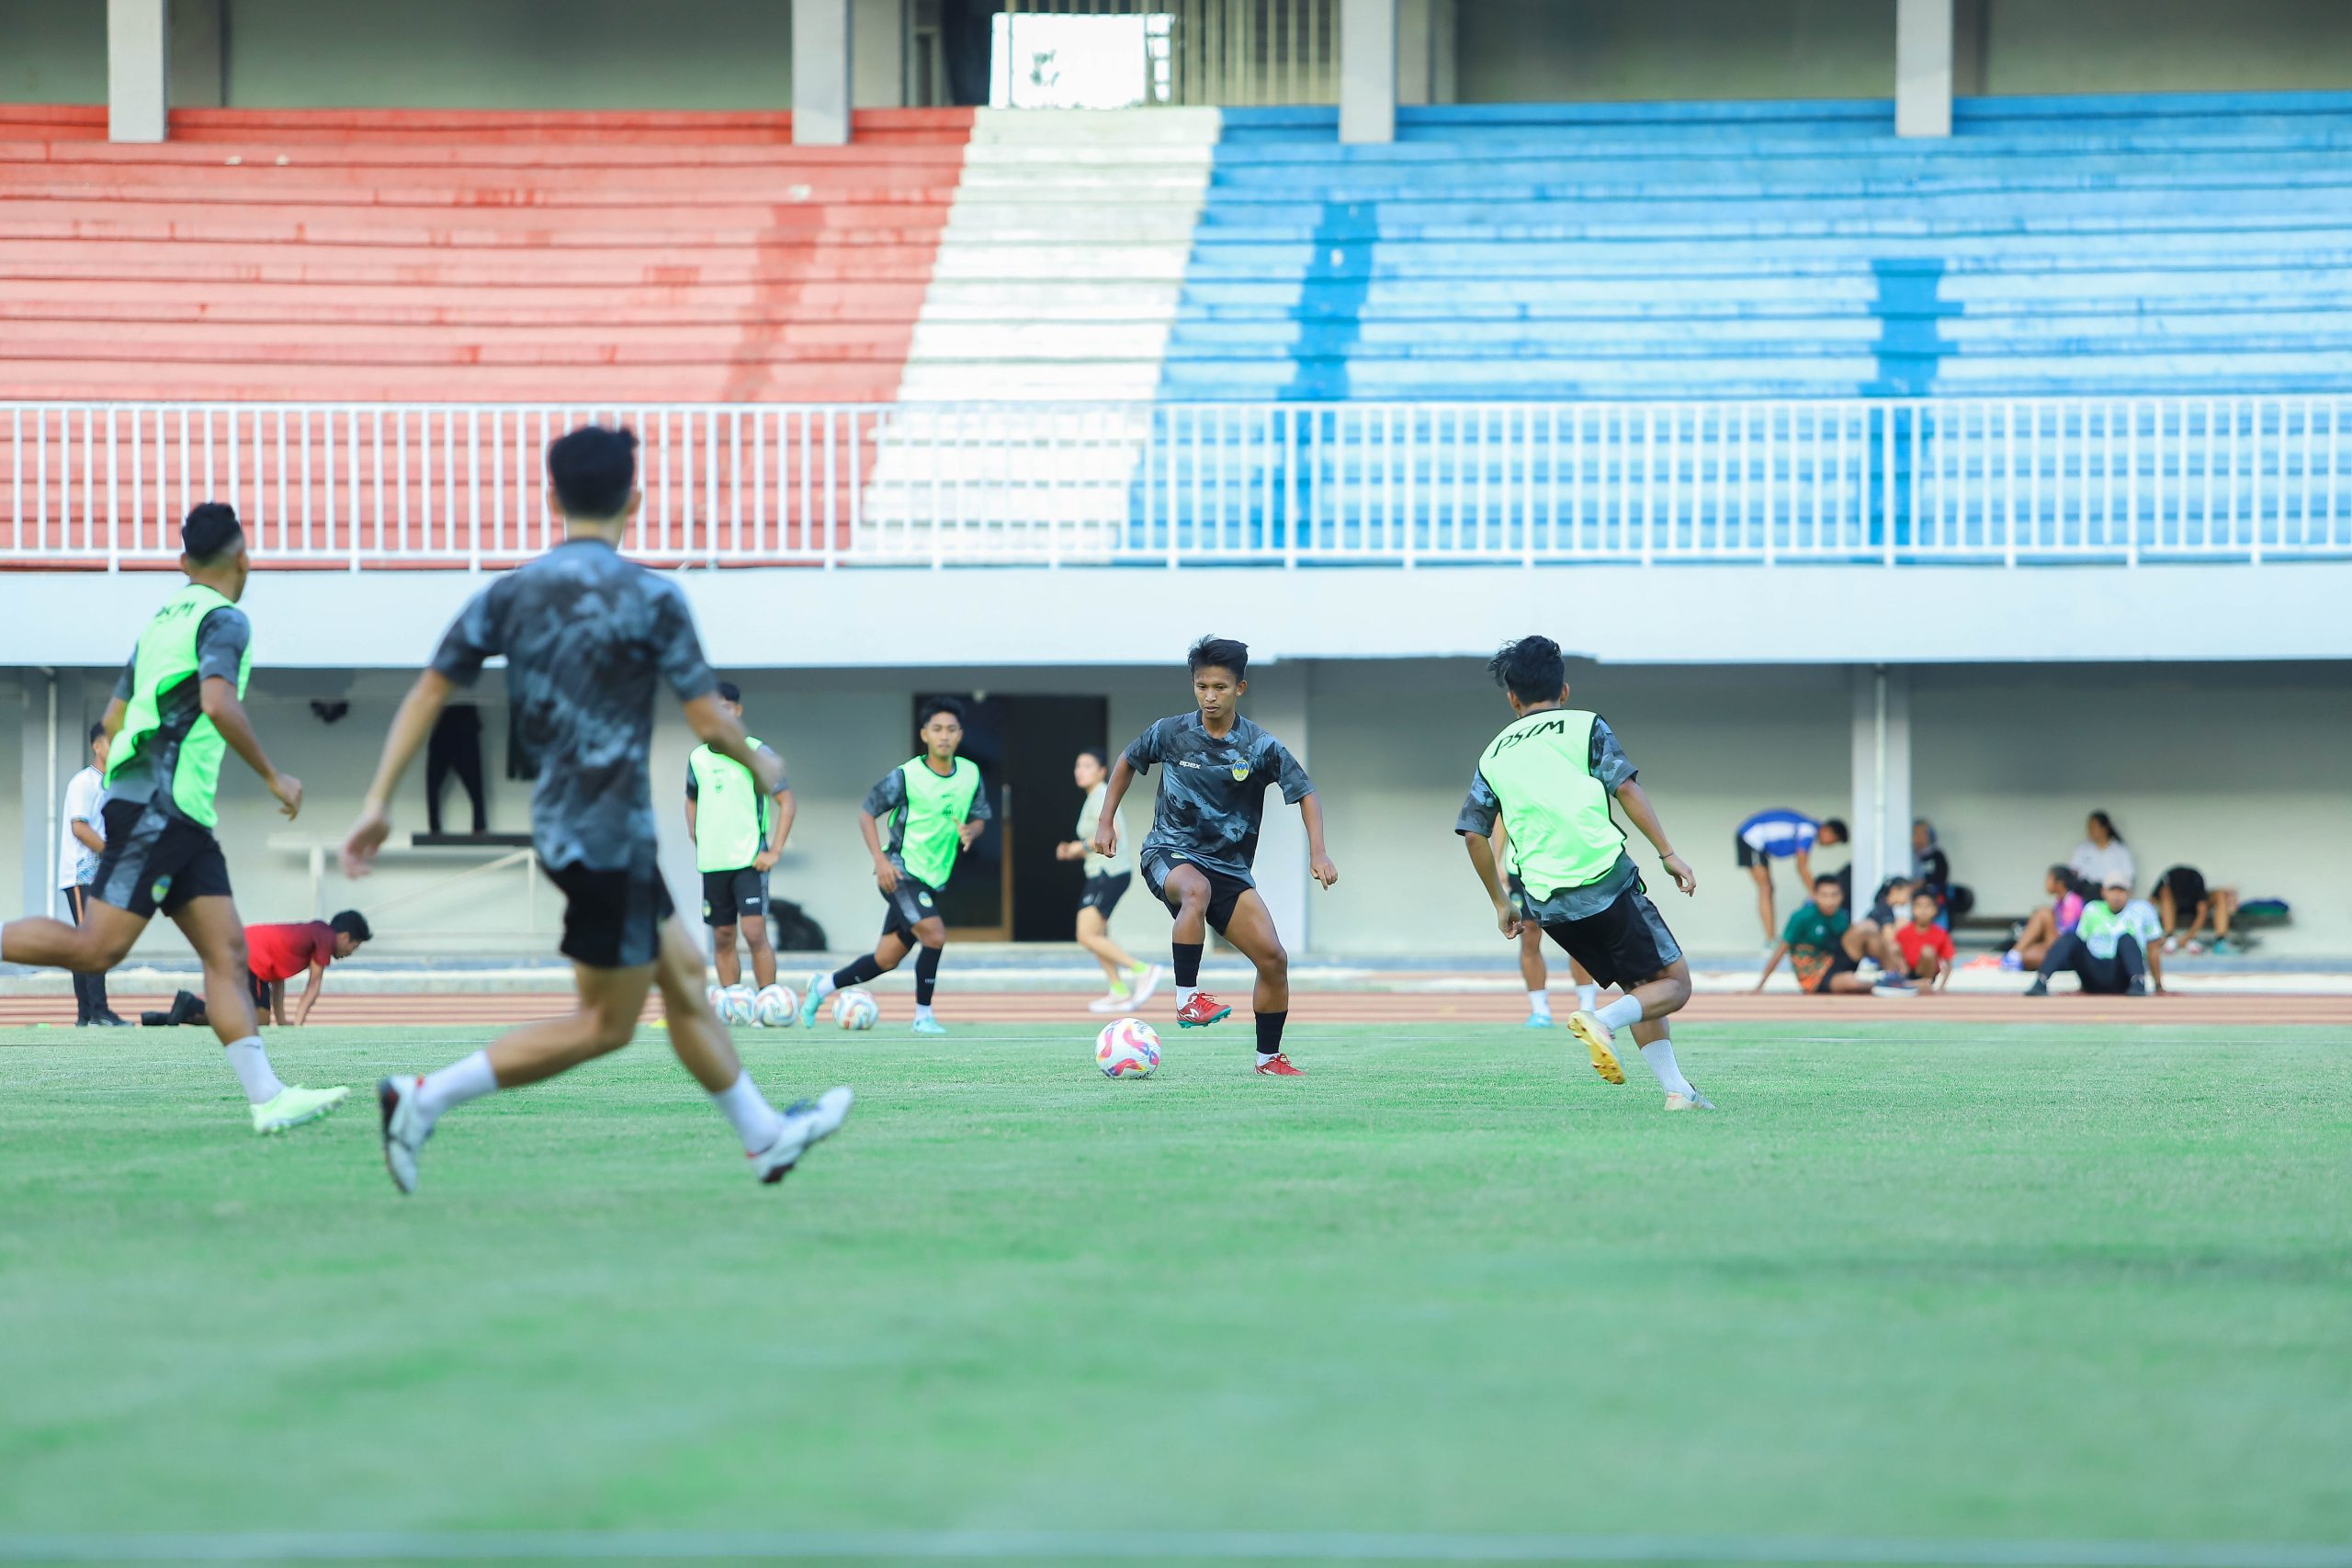
[[[1162, 670], [913, 670], [739, 672], [750, 724], [786, 757], [800, 823], [774, 889], [826, 926], [837, 947], [866, 945], [877, 898], [856, 806], [887, 769], [913, 752], [908, 698], [953, 684], [974, 691], [1103, 693], [1112, 745], [1150, 719], [1183, 712], [1181, 665]], [[1757, 945], [1752, 891], [1733, 867], [1731, 830], [1759, 806], [1816, 813], [1849, 809], [1846, 672], [1825, 665], [1592, 665], [1571, 668], [1576, 701], [1616, 726], [1642, 780], [1700, 877], [1696, 900], [1653, 893], [1684, 943], [1700, 954], [1748, 954]], [[103, 708], [111, 672], [68, 675], [61, 689], [61, 778], [75, 764], [73, 733]], [[388, 672], [261, 670], [252, 708], [266, 743], [308, 790], [303, 820], [285, 825], [259, 783], [230, 764], [221, 830], [249, 919], [310, 912], [303, 856], [268, 846], [273, 835], [336, 839], [374, 766], [383, 726], [405, 689]], [[1955, 872], [1987, 912], [2023, 912], [2042, 867], [2063, 860], [2093, 806], [2122, 823], [2140, 856], [2143, 884], [2176, 860], [2249, 896], [2296, 905], [2296, 926], [2265, 954], [2352, 952], [2352, 684], [2343, 665], [2086, 665], [2065, 670], [1922, 668], [1912, 672], [1915, 799], [1931, 816]], [[336, 726], [310, 698], [346, 698]], [[506, 719], [501, 677], [482, 677], [492, 827], [527, 827], [527, 785], [501, 778]], [[1331, 825], [1338, 889], [1305, 891], [1305, 919], [1284, 922], [1291, 945], [1317, 952], [1461, 957], [1486, 947], [1486, 907], [1454, 837], [1454, 813], [1477, 752], [1508, 719], [1477, 661], [1322, 661], [1261, 665], [1256, 710], [1303, 745]], [[1303, 715], [1303, 722], [1301, 717]], [[38, 731], [38, 726], [35, 726]], [[0, 724], [0, 769], [21, 759], [24, 724]], [[1301, 741], [1303, 736], [1303, 741]], [[38, 741], [38, 733], [35, 733]], [[654, 802], [673, 896], [696, 898], [680, 799], [691, 738], [663, 712], [654, 752]], [[35, 776], [40, 759], [35, 757]], [[1152, 780], [1138, 785], [1129, 835], [1150, 823]], [[409, 778], [397, 825], [423, 825], [423, 773]], [[452, 820], [463, 823], [459, 792]], [[45, 813], [42, 802], [28, 802]], [[1070, 813], [1077, 792], [1070, 790]], [[19, 806], [19, 811], [24, 804]], [[0, 830], [0, 886], [24, 889], [21, 818]], [[1296, 811], [1272, 806], [1261, 879], [1298, 886], [1303, 835]], [[1637, 858], [1653, 867], [1646, 851]], [[1835, 863], [1839, 856], [1825, 856]], [[548, 954], [555, 900], [539, 896], [527, 926], [520, 872], [381, 910], [386, 898], [461, 870], [463, 860], [393, 860], [362, 886], [327, 877], [327, 910], [372, 912], [383, 952], [496, 957]], [[14, 875], [9, 875], [14, 867]], [[1783, 875], [1783, 907], [1792, 879]], [[1120, 907], [1115, 936], [1141, 957], [1167, 943], [1167, 917], [1138, 891]], [[463, 933], [463, 936], [459, 936]], [[1501, 943], [1496, 943], [1501, 947]], [[179, 936], [151, 936], [148, 952], [179, 954]]]

